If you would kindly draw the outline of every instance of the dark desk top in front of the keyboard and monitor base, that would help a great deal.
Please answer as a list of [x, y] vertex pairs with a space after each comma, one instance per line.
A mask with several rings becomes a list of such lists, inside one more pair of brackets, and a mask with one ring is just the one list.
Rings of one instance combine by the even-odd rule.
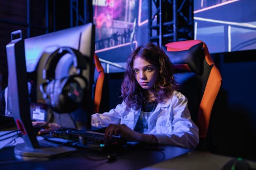
[[31, 161], [20, 161], [15, 158], [13, 150], [14, 146], [0, 149], [0, 169], [141, 169], [191, 151], [168, 145], [147, 145], [139, 143], [110, 153], [110, 155], [116, 157], [113, 161], [108, 160], [108, 155], [88, 149], [79, 149], [71, 155], [49, 160], [35, 159]]

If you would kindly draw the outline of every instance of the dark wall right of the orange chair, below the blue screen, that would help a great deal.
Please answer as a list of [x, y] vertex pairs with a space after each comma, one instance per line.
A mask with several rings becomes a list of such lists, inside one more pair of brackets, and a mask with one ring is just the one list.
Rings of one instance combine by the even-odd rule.
[[210, 133], [216, 153], [256, 159], [256, 52], [211, 54], [222, 75]]

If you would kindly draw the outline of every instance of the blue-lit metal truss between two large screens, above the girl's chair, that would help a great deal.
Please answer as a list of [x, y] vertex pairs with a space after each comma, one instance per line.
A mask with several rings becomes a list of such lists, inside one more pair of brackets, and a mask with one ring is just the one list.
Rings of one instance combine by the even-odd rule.
[[193, 0], [149, 1], [149, 41], [162, 46], [168, 42], [193, 39], [193, 9]]

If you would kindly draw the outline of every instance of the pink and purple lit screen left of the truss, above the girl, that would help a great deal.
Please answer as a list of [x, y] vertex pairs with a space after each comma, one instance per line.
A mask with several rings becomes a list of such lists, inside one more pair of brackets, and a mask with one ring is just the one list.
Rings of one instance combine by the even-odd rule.
[[137, 1], [93, 1], [95, 53], [98, 50], [131, 43], [137, 18]]

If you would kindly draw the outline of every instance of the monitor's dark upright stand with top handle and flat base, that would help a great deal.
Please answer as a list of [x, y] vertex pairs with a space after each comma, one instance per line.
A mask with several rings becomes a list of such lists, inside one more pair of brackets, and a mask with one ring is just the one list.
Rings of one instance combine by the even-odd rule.
[[50, 158], [76, 151], [75, 148], [54, 146], [47, 141], [38, 141], [30, 117], [28, 94], [28, 77], [22, 31], [11, 33], [11, 42], [6, 45], [8, 62], [8, 112], [13, 115], [18, 130], [22, 133], [24, 143], [14, 148], [17, 158]]

